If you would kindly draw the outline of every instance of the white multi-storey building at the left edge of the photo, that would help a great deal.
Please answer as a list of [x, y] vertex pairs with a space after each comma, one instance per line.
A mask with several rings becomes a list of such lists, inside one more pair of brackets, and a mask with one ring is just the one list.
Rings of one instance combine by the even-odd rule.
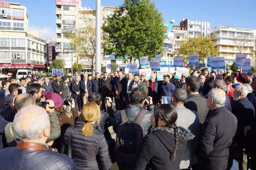
[[26, 6], [0, 1], [0, 68], [16, 75], [20, 68], [34, 72], [46, 67], [46, 41], [28, 29]]

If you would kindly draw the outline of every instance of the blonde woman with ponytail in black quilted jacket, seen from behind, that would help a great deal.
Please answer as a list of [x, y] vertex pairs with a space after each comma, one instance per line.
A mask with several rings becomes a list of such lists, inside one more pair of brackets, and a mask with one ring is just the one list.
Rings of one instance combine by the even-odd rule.
[[96, 103], [86, 103], [82, 108], [80, 121], [68, 127], [65, 132], [60, 152], [68, 152], [69, 134], [74, 127], [71, 135], [71, 155], [78, 170], [109, 170], [111, 168], [112, 162], [106, 138], [97, 130], [98, 125], [95, 124], [99, 119], [100, 107]]

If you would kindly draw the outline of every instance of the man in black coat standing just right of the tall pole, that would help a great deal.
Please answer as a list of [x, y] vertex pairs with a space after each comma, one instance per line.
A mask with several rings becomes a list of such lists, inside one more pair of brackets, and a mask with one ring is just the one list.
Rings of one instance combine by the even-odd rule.
[[[100, 81], [100, 90], [99, 90], [102, 98], [110, 97], [110, 93], [111, 93], [110, 81], [111, 81], [111, 79], [108, 78], [108, 73], [104, 72], [103, 78]], [[102, 100], [102, 103], [104, 103], [104, 102], [105, 102], [105, 100]], [[104, 111], [106, 111], [105, 104], [102, 104], [101, 107], [102, 107], [102, 109], [104, 109]]]

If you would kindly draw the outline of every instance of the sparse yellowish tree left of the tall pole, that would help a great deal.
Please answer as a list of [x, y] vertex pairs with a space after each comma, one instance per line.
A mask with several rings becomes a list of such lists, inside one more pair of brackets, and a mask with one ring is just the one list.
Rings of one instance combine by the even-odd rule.
[[[84, 23], [82, 23], [83, 29], [67, 32], [65, 36], [70, 39], [70, 47], [72, 51], [75, 51], [77, 62], [83, 57], [89, 57], [92, 60], [91, 68], [93, 73], [93, 61], [96, 53], [95, 16], [86, 14], [81, 18], [84, 18]], [[103, 36], [101, 42], [101, 48], [104, 48]]]

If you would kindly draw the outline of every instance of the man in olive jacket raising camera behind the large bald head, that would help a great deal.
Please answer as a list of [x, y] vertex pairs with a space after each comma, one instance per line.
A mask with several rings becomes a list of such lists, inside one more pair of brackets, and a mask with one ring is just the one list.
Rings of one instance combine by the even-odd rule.
[[[50, 142], [60, 137], [60, 125], [58, 122], [58, 117], [56, 116], [56, 112], [54, 111], [54, 102], [51, 100], [47, 100], [47, 102], [48, 104], [46, 105], [45, 109], [50, 119], [50, 135], [46, 142]], [[20, 109], [34, 104], [34, 97], [31, 94], [24, 93], [15, 97], [11, 106], [14, 107], [18, 112]], [[4, 132], [8, 146], [15, 147], [18, 143], [19, 137], [14, 131], [14, 127], [12, 127], [12, 122], [6, 125]]]

